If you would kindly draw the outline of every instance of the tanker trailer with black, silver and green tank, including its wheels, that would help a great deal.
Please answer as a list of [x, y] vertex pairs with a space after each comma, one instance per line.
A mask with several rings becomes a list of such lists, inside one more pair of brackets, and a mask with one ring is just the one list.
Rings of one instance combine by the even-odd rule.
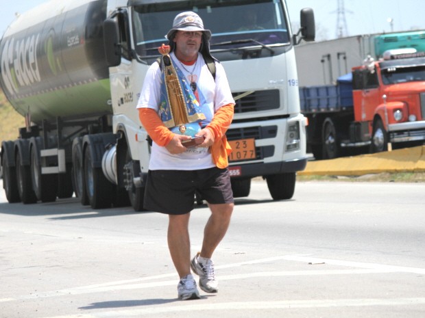
[[143, 188], [134, 183], [140, 174], [133, 178], [140, 168], [125, 134], [112, 129], [107, 5], [49, 1], [18, 16], [1, 39], [0, 85], [26, 122], [17, 140], [1, 144], [9, 202], [51, 202], [75, 192], [97, 209], [127, 204], [130, 194], [134, 209], [142, 209]]

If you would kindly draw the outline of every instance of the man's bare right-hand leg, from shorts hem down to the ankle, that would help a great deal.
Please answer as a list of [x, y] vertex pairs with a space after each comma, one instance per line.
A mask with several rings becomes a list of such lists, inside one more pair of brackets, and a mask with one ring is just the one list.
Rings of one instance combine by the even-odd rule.
[[208, 205], [211, 215], [204, 229], [204, 241], [202, 242], [202, 249], [199, 254], [205, 259], [211, 259], [215, 248], [217, 248], [224, 235], [226, 235], [234, 207], [233, 203]]

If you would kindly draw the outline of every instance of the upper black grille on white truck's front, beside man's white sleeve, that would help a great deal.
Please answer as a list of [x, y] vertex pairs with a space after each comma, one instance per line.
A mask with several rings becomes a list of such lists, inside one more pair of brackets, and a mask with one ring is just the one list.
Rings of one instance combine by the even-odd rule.
[[[243, 93], [236, 92], [232, 95], [236, 97]], [[245, 97], [237, 99], [235, 102], [234, 114], [278, 109], [280, 105], [279, 90], [257, 90]]]

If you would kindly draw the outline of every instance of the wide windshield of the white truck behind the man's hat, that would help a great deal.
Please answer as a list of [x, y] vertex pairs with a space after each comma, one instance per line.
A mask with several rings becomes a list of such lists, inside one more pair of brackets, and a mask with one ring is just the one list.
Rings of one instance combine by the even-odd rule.
[[210, 49], [221, 61], [271, 56], [290, 44], [282, 2], [278, 0], [196, 0], [135, 5], [132, 13], [134, 46], [147, 62], [158, 57], [158, 47], [174, 17], [193, 11], [213, 36]]

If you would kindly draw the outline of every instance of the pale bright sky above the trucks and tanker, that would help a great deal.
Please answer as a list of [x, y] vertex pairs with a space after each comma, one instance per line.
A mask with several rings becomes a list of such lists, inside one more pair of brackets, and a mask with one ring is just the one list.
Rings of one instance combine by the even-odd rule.
[[[14, 21], [16, 12], [23, 13], [43, 2], [45, 0], [1, 0], [0, 34]], [[338, 10], [338, 3], [343, 8]], [[302, 8], [314, 10], [316, 40], [332, 40], [341, 34], [356, 36], [425, 29], [424, 0], [287, 0], [287, 4], [293, 25], [300, 24]]]

